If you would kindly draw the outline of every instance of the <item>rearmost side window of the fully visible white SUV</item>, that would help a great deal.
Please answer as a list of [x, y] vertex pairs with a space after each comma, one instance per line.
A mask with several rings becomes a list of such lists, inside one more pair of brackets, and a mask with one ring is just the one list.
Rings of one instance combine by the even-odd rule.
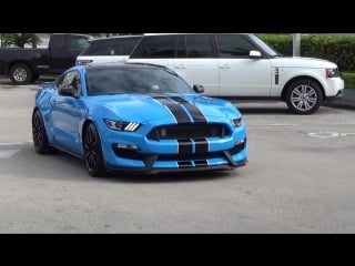
[[144, 37], [133, 51], [131, 58], [175, 58], [176, 40], [178, 35]]

